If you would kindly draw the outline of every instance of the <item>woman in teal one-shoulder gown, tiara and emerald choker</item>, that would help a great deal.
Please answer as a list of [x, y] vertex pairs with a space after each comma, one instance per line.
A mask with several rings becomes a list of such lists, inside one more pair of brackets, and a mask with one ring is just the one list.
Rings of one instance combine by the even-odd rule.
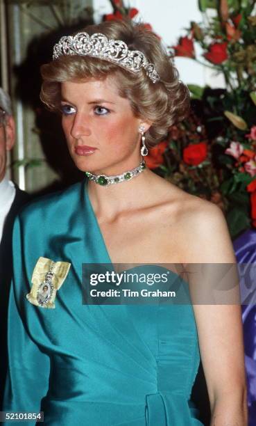
[[187, 112], [176, 68], [142, 24], [105, 22], [62, 38], [42, 77], [88, 179], [16, 221], [4, 409], [41, 409], [46, 425], [201, 425], [190, 399], [201, 356], [212, 425], [246, 425], [239, 306], [80, 302], [82, 263], [234, 262], [219, 208], [142, 160]]

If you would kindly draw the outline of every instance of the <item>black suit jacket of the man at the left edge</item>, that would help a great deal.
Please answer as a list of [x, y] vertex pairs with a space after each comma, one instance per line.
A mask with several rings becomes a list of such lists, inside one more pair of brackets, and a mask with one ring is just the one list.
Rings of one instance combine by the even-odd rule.
[[21, 207], [31, 199], [26, 192], [21, 191], [15, 184], [15, 199], [10, 207], [3, 226], [0, 244], [0, 411], [2, 407], [3, 390], [7, 369], [7, 309], [12, 276], [12, 228], [15, 217]]

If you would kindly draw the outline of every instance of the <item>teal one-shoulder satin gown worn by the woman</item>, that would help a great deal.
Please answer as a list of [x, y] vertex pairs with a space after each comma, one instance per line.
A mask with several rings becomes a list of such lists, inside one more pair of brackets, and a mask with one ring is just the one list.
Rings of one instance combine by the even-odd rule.
[[[82, 263], [111, 263], [86, 179], [28, 205], [13, 242], [4, 411], [44, 411], [51, 426], [202, 425], [192, 306], [82, 304]], [[54, 309], [26, 299], [40, 256], [71, 263]]]

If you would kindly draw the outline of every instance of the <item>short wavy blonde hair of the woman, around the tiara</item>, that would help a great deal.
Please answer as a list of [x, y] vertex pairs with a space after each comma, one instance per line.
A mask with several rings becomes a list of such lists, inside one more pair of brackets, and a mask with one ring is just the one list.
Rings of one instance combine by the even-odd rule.
[[148, 62], [155, 65], [161, 80], [154, 84], [143, 69], [133, 74], [100, 58], [60, 56], [41, 67], [42, 102], [49, 109], [58, 111], [62, 82], [114, 77], [119, 95], [130, 101], [135, 116], [153, 123], [146, 132], [146, 144], [153, 147], [167, 136], [169, 127], [187, 116], [190, 105], [189, 90], [180, 81], [178, 70], [161, 46], [160, 40], [144, 24], [123, 19], [89, 25], [80, 31], [86, 31], [90, 36], [93, 33], [103, 33], [108, 38], [123, 40], [129, 49], [140, 50]]

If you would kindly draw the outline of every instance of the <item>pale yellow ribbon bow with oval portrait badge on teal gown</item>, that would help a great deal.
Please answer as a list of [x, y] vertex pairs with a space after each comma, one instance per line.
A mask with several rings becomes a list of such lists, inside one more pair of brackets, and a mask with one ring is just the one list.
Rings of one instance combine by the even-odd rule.
[[31, 292], [26, 294], [26, 299], [42, 308], [55, 308], [56, 292], [64, 283], [70, 266], [69, 262], [39, 258], [33, 270]]

